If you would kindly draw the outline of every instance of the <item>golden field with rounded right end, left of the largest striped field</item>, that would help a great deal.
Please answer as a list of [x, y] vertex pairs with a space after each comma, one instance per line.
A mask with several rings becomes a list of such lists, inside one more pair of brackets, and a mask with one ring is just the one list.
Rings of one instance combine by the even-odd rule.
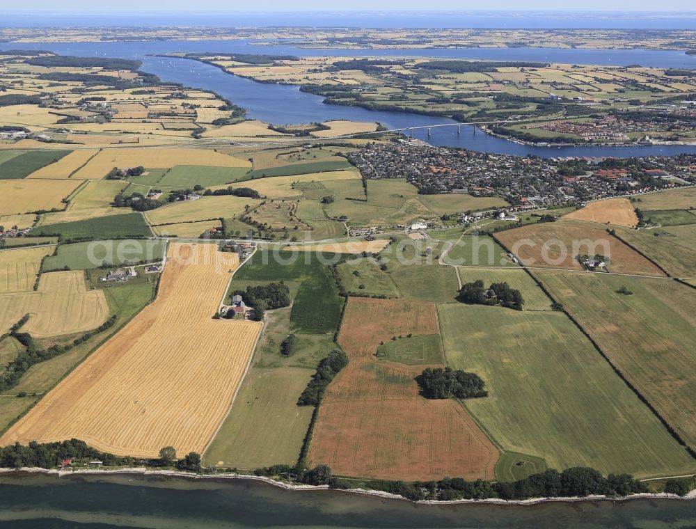
[[35, 292], [0, 294], [2, 332], [25, 314], [30, 317], [22, 331], [49, 338], [95, 329], [106, 322], [109, 306], [102, 290], [87, 290], [83, 272], [49, 272], [41, 275]]

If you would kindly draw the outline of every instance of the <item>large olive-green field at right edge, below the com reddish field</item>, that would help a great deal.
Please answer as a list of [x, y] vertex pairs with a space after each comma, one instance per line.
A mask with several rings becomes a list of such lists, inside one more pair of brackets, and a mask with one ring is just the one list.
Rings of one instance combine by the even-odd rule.
[[[536, 272], [535, 272], [536, 274]], [[675, 281], [538, 273], [604, 354], [696, 446], [696, 297]], [[620, 287], [633, 292], [618, 294]]]

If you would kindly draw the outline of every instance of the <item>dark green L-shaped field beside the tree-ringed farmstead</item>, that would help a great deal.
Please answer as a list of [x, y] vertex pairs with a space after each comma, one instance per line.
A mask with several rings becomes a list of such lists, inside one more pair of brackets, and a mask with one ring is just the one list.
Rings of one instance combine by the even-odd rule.
[[[277, 247], [276, 247], [277, 248]], [[338, 262], [340, 255], [326, 255]], [[235, 274], [235, 279], [301, 281], [290, 315], [291, 329], [299, 333], [333, 333], [343, 299], [325, 264], [313, 252], [261, 249]]]

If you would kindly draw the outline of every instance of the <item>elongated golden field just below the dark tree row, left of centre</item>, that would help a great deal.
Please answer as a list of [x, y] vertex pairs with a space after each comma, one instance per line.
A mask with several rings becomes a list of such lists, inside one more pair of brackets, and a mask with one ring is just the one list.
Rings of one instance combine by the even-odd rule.
[[245, 205], [255, 207], [260, 202], [261, 200], [242, 196], [204, 196], [196, 200], [186, 200], [158, 207], [157, 210], [150, 210], [145, 213], [145, 220], [150, 224], [168, 224], [229, 219], [243, 212]]

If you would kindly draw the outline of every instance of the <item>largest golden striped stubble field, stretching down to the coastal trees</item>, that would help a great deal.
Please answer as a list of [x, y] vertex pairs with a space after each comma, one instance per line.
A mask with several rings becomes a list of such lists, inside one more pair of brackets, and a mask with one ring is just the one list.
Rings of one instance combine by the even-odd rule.
[[0, 438], [0, 445], [83, 439], [157, 457], [203, 453], [225, 418], [262, 325], [212, 313], [237, 255], [172, 244], [154, 303], [79, 365]]

